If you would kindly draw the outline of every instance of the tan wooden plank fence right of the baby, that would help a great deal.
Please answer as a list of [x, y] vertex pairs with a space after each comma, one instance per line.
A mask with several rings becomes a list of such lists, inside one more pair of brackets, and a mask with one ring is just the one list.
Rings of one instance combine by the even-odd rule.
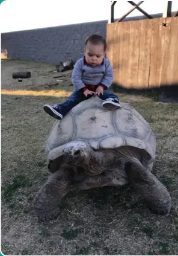
[[178, 17], [107, 24], [107, 43], [118, 85], [178, 85]]

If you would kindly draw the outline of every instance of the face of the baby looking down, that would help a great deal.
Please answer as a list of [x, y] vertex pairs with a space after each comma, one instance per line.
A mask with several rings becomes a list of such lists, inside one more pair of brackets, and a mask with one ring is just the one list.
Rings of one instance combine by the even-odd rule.
[[88, 42], [85, 46], [85, 59], [88, 64], [91, 66], [100, 65], [105, 57], [105, 50], [103, 43], [98, 45], [93, 45]]

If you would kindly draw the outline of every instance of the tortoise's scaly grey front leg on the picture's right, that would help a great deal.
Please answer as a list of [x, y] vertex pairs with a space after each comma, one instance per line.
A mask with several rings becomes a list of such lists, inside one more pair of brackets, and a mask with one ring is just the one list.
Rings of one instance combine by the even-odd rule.
[[171, 210], [171, 197], [167, 188], [140, 162], [126, 164], [129, 184], [144, 197], [148, 208], [156, 214], [168, 214]]

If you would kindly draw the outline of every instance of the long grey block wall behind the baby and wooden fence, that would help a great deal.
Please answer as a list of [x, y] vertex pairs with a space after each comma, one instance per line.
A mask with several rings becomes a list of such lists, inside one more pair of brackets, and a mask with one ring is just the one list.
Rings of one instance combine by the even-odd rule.
[[[153, 15], [155, 18], [161, 13]], [[124, 21], [146, 19], [144, 16], [126, 18]], [[93, 33], [106, 38], [108, 21], [87, 22], [35, 30], [1, 34], [1, 52], [7, 57], [57, 64], [67, 59], [78, 60], [84, 53], [84, 42]]]

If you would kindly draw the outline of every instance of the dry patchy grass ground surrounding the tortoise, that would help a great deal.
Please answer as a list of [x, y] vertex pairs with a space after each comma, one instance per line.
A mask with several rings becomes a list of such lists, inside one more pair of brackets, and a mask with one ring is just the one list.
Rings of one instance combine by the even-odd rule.
[[[54, 119], [45, 103], [64, 101], [70, 72], [55, 66], [2, 60], [1, 245], [8, 255], [176, 255], [178, 252], [178, 104], [118, 94], [149, 121], [158, 147], [153, 173], [170, 191], [168, 216], [147, 210], [128, 186], [75, 190], [64, 197], [57, 220], [38, 223], [32, 199], [49, 176], [44, 146]], [[22, 83], [13, 72], [31, 71]], [[68, 76], [67, 76], [68, 75]], [[56, 81], [62, 80], [62, 81]], [[58, 83], [58, 85], [52, 85]], [[52, 85], [52, 86], [50, 86]], [[57, 91], [55, 91], [57, 90]], [[57, 97], [58, 96], [58, 97]]]

